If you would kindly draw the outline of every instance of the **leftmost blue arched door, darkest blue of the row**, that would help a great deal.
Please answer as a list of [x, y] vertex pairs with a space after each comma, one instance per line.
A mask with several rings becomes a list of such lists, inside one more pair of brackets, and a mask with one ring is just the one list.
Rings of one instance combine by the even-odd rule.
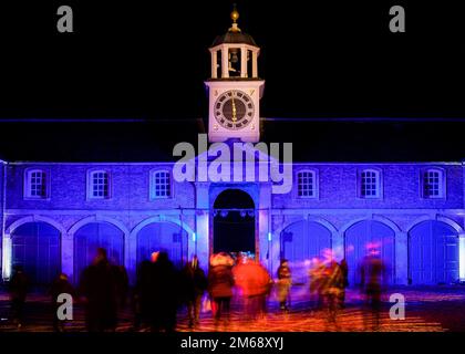
[[11, 233], [11, 264], [22, 266], [31, 284], [50, 285], [60, 273], [60, 231], [38, 221], [27, 222]]

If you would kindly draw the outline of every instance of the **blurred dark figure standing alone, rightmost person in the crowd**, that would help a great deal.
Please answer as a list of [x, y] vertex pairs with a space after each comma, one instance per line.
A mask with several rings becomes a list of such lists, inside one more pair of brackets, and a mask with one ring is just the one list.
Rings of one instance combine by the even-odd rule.
[[[360, 266], [361, 292], [365, 298], [368, 313], [371, 314], [372, 330], [380, 327], [381, 296], [386, 283], [386, 267], [380, 257], [378, 249], [369, 250]], [[368, 330], [368, 317], [364, 316], [365, 330]]]

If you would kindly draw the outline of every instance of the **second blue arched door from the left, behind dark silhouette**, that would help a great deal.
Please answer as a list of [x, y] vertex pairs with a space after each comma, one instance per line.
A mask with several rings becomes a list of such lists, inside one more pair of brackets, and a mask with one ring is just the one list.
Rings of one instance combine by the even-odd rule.
[[97, 248], [104, 248], [108, 260], [124, 264], [124, 232], [110, 222], [91, 222], [74, 233], [74, 280], [92, 263]]

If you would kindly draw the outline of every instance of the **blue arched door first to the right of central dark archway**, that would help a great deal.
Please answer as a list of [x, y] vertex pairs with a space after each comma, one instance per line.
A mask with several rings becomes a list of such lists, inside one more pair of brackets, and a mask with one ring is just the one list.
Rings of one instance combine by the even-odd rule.
[[280, 237], [280, 257], [290, 261], [294, 282], [306, 282], [308, 261], [331, 248], [331, 231], [317, 221], [293, 222], [281, 231]]

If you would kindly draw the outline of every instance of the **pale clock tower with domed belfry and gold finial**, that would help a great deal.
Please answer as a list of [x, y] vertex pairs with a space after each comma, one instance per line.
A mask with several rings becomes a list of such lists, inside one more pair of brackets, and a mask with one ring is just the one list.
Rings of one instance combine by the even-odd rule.
[[231, 12], [232, 25], [209, 48], [211, 76], [208, 88], [208, 138], [210, 143], [239, 138], [260, 139], [260, 98], [265, 81], [258, 77], [260, 49], [238, 24], [239, 12]]

